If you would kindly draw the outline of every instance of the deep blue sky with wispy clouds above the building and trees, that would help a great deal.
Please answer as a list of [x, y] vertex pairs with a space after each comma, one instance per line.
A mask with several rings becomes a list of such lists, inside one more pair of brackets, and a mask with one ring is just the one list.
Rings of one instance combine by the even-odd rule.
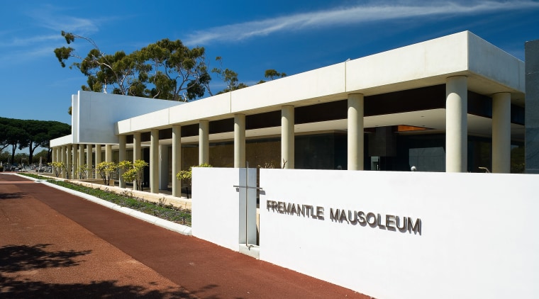
[[[521, 60], [524, 42], [539, 39], [539, 1], [530, 0], [9, 1], [0, 16], [0, 116], [63, 123], [86, 78], [57, 62], [61, 30], [106, 53], [179, 39], [205, 47], [210, 69], [223, 57], [248, 85], [266, 69], [298, 74], [463, 30]], [[82, 40], [73, 47], [90, 50]], [[215, 76], [212, 86], [224, 88]]]

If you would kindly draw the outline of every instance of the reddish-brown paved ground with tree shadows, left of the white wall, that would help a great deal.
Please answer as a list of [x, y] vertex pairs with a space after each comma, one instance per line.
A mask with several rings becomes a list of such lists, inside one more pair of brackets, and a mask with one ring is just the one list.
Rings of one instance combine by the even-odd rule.
[[370, 298], [0, 174], [0, 298]]

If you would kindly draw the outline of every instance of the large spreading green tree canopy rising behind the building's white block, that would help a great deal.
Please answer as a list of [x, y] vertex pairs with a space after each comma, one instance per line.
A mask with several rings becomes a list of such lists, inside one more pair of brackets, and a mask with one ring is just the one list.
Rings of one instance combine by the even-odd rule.
[[70, 68], [79, 69], [87, 77], [82, 90], [172, 101], [191, 101], [209, 91], [211, 76], [204, 47], [190, 49], [181, 40], [165, 38], [130, 54], [118, 51], [110, 55], [91, 38], [65, 31], [62, 36], [68, 45], [86, 40], [92, 47], [86, 57], [78, 55], [73, 47], [54, 51], [62, 67], [70, 58], [77, 59]]

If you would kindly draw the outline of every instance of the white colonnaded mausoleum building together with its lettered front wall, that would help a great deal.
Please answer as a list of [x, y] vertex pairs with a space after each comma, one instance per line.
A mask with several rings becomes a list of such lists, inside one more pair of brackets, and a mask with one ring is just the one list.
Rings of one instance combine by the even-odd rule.
[[531, 297], [524, 109], [524, 62], [465, 31], [189, 103], [79, 91], [50, 146], [73, 169], [145, 159], [149, 191], [174, 196], [209, 163], [193, 235], [376, 298]]

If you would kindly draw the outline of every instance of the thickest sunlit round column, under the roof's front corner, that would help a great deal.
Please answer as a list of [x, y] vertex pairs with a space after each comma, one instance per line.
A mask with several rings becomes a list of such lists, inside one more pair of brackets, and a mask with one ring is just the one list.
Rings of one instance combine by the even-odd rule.
[[445, 84], [445, 171], [466, 172], [468, 164], [468, 84], [465, 76]]

